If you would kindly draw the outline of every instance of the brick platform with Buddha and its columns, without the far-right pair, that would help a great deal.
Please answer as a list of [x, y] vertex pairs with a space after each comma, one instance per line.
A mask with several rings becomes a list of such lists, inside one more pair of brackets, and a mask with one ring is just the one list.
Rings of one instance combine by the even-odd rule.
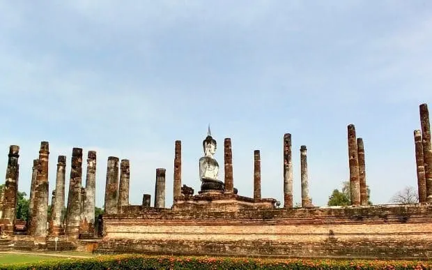
[[[416, 140], [417, 142], [417, 140]], [[277, 257], [432, 257], [432, 205], [368, 205], [364, 142], [348, 126], [348, 160], [352, 205], [315, 207], [309, 197], [307, 149], [300, 147], [302, 207], [293, 207], [291, 134], [284, 135], [284, 207], [261, 198], [261, 155], [254, 151], [254, 197], [233, 188], [231, 139], [224, 140], [224, 181], [219, 180], [216, 140], [208, 132], [199, 160], [201, 190], [181, 183], [180, 141], [174, 158], [174, 200], [160, 207], [164, 194], [157, 174], [155, 207], [143, 204], [104, 216], [98, 253], [240, 255]], [[252, 180], [251, 180], [252, 181]], [[163, 185], [162, 185], [163, 183]]]

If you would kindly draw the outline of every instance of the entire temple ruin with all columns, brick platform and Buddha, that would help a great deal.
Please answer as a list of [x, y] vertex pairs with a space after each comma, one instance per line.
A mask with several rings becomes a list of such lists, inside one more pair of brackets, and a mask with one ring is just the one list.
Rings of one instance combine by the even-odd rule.
[[[261, 185], [261, 152], [251, 153], [253, 197], [234, 187], [231, 138], [223, 144], [224, 175], [219, 175], [215, 156], [217, 141], [210, 133], [203, 140], [199, 174], [194, 188], [182, 185], [182, 146], [174, 143], [173, 177], [156, 168], [155, 193], [144, 194], [142, 204], [130, 205], [129, 160], [110, 156], [107, 163], [105, 213], [94, 220], [95, 152], [88, 151], [86, 188], [82, 187], [82, 149], [72, 150], [69, 197], [65, 225], [59, 209], [65, 197], [65, 156], [59, 156], [52, 218], [47, 230], [48, 142], [40, 144], [31, 180], [31, 223], [27, 235], [14, 234], [14, 202], [18, 184], [18, 150], [8, 155], [6, 186], [0, 190], [1, 237], [16, 249], [86, 248], [97, 253], [148, 253], [170, 255], [231, 255], [275, 257], [339, 257], [429, 260], [432, 257], [432, 150], [429, 111], [420, 105], [420, 128], [415, 130], [415, 161], [419, 203], [369, 205], [367, 195], [367, 141], [348, 125], [348, 166], [351, 204], [317, 207], [309, 195], [307, 148], [300, 147], [300, 160], [292, 158], [291, 133], [283, 137], [283, 179], [274, 187], [284, 195], [284, 205], [265, 198]], [[311, 152], [313, 154], [313, 152]], [[414, 155], [412, 155], [414, 158]], [[294, 164], [293, 164], [294, 163]], [[299, 164], [300, 163], [300, 164]], [[253, 165], [252, 165], [253, 164]], [[302, 205], [293, 206], [293, 165], [300, 165]], [[29, 168], [30, 169], [30, 168]], [[119, 170], [120, 169], [120, 170]], [[22, 167], [20, 167], [22, 170]], [[152, 169], [154, 170], [154, 169]], [[414, 168], [412, 168], [414, 172]], [[173, 205], [165, 204], [165, 187], [172, 179]], [[153, 207], [152, 197], [153, 197]], [[93, 215], [92, 215], [93, 214]], [[93, 225], [94, 223], [94, 225]], [[16, 225], [16, 224], [15, 224]], [[97, 230], [95, 230], [97, 229]], [[97, 233], [95, 232], [97, 231]], [[101, 239], [92, 239], [95, 234]]]

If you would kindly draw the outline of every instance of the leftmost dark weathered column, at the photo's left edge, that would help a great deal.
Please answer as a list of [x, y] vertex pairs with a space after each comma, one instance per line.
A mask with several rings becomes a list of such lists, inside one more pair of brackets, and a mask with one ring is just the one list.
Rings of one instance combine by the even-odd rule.
[[13, 235], [15, 225], [15, 216], [17, 209], [17, 193], [18, 193], [18, 174], [20, 165], [18, 158], [20, 147], [11, 145], [8, 154], [8, 167], [6, 168], [6, 184], [4, 186], [3, 197], [3, 223], [5, 223], [4, 233]]

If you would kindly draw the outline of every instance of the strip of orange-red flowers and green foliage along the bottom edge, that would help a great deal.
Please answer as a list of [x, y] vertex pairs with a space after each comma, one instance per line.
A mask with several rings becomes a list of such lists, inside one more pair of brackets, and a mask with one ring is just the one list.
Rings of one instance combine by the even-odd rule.
[[112, 255], [38, 264], [9, 264], [0, 269], [432, 269], [432, 262]]

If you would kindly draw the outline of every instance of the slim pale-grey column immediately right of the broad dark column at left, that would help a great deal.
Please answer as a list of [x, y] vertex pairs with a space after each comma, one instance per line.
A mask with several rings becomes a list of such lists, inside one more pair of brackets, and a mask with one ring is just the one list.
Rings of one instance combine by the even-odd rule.
[[84, 220], [87, 223], [88, 233], [95, 230], [95, 206], [96, 206], [96, 151], [87, 153], [86, 172], [86, 200], [84, 202]]

